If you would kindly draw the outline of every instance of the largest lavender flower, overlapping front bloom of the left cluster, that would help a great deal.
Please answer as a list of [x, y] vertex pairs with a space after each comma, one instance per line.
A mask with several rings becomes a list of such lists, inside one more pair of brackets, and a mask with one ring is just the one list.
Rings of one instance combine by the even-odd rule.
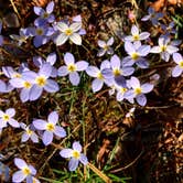
[[29, 92], [30, 100], [36, 100], [44, 89], [47, 93], [56, 93], [58, 90], [57, 83], [49, 78], [51, 76], [51, 64], [45, 63], [40, 68], [39, 73], [28, 71], [22, 74], [23, 79], [32, 84], [32, 87]]

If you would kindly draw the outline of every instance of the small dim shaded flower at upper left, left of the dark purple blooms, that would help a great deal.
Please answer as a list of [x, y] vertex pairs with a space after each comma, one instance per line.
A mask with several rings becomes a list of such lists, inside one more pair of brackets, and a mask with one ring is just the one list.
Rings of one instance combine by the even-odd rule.
[[19, 35], [11, 34], [10, 37], [15, 40], [18, 42], [18, 45], [21, 46], [23, 43], [26, 43], [29, 35], [26, 34], [26, 29], [21, 28], [19, 31]]

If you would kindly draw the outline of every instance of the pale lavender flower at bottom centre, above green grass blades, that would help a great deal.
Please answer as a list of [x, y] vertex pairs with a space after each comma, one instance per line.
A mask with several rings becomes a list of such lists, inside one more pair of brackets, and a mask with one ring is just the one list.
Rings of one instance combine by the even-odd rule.
[[73, 149], [63, 149], [61, 150], [61, 157], [65, 159], [71, 159], [68, 162], [69, 171], [75, 171], [78, 166], [78, 163], [86, 165], [88, 163], [87, 157], [82, 152], [82, 146], [79, 142], [73, 143]]

